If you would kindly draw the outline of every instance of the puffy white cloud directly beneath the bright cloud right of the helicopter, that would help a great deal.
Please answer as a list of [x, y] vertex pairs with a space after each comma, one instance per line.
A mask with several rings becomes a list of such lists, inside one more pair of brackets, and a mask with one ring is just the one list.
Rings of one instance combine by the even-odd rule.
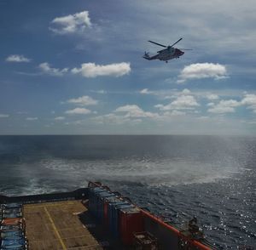
[[162, 111], [170, 110], [191, 110], [195, 109], [196, 106], [199, 106], [196, 99], [192, 95], [180, 95], [177, 99], [173, 100], [168, 105], [157, 105], [156, 107], [160, 108]]

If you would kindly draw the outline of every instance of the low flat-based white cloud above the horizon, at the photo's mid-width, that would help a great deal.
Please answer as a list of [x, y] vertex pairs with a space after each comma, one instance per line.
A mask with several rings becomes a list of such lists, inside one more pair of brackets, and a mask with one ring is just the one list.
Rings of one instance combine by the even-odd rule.
[[155, 113], [143, 111], [137, 105], [125, 105], [120, 106], [115, 112], [125, 112], [125, 117], [155, 117], [158, 116]]

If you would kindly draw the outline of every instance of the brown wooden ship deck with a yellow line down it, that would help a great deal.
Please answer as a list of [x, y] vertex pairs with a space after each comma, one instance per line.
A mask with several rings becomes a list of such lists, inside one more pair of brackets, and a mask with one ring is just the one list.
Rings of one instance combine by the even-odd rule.
[[24, 205], [29, 247], [43, 249], [102, 249], [99, 241], [79, 219], [87, 208], [80, 201]]

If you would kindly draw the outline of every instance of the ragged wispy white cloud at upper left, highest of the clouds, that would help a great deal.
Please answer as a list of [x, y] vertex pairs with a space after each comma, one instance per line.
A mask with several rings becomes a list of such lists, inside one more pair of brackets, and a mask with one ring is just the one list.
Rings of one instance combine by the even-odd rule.
[[91, 26], [89, 12], [86, 10], [76, 14], [56, 17], [51, 23], [54, 27], [50, 27], [49, 30], [59, 35], [83, 32]]

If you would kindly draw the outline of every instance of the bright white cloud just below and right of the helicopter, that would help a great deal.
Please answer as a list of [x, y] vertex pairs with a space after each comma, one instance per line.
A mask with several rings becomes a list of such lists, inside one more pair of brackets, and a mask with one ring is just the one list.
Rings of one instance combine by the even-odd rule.
[[178, 76], [177, 83], [190, 79], [214, 78], [216, 80], [228, 77], [224, 65], [213, 63], [198, 63], [185, 66]]

